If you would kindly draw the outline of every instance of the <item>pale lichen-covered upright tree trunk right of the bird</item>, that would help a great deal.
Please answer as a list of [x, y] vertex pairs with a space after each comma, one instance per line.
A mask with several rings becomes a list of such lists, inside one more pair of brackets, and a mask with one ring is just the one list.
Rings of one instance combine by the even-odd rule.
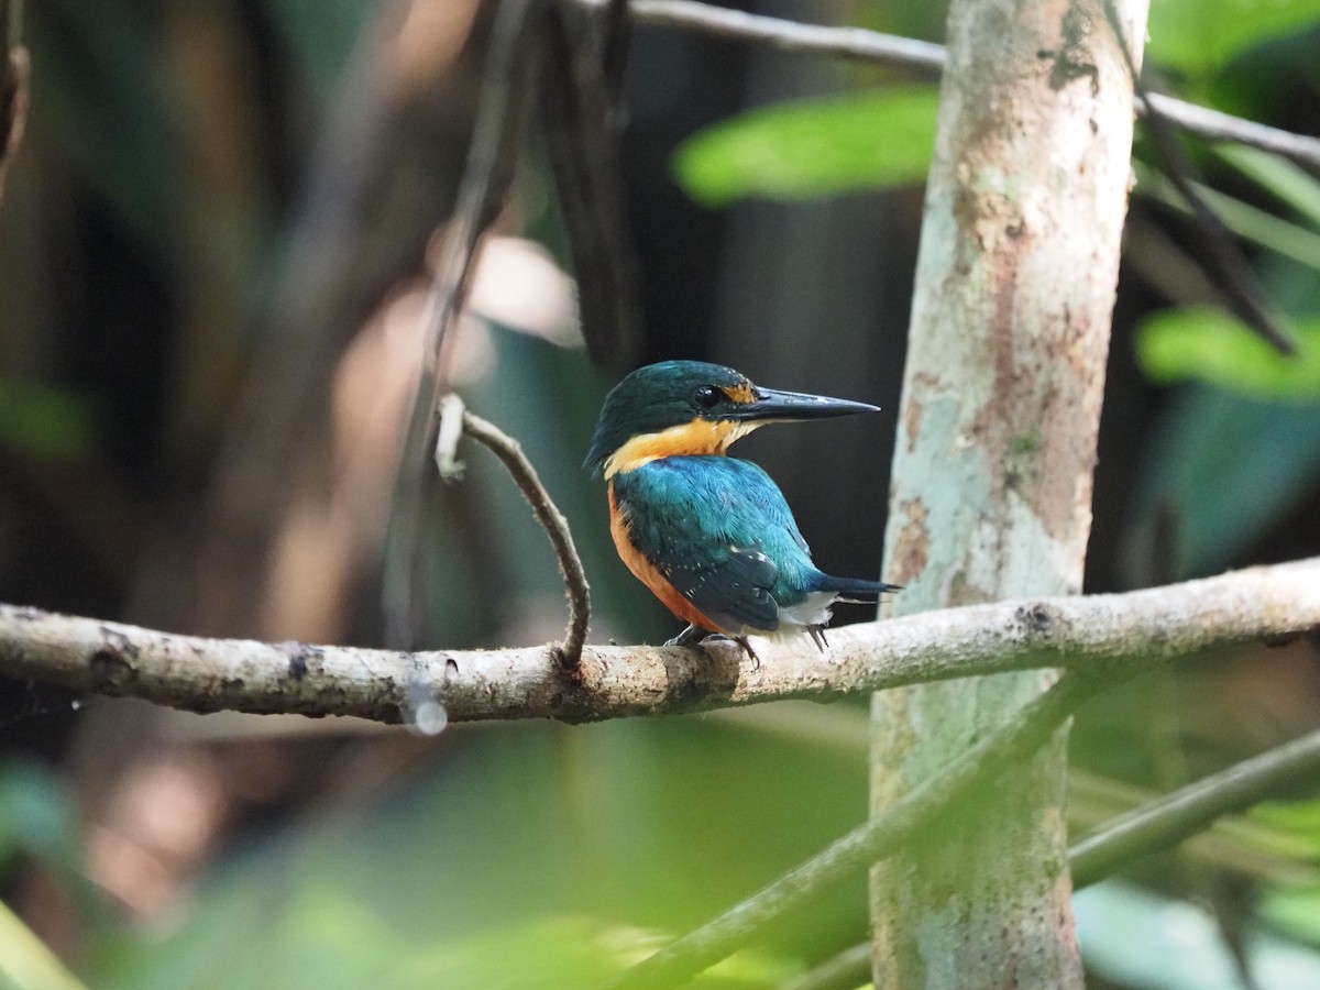
[[[1114, 0], [1134, 55], [1147, 0]], [[884, 577], [912, 612], [1081, 590], [1133, 83], [1102, 0], [953, 0]], [[880, 810], [1049, 684], [875, 696]], [[1081, 986], [1067, 734], [874, 870], [876, 986]]]

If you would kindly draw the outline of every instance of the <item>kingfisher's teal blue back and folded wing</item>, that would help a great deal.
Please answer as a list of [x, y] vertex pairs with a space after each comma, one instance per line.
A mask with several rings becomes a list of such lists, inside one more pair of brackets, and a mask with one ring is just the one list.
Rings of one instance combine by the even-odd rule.
[[760, 467], [667, 457], [614, 477], [632, 544], [725, 630], [779, 628], [817, 574], [784, 496]]

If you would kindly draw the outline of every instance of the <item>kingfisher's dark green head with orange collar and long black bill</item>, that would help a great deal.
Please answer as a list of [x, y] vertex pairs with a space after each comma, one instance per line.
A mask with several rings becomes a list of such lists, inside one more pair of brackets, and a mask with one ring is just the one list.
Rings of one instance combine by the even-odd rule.
[[876, 412], [846, 399], [754, 385], [722, 364], [665, 360], [647, 364], [606, 396], [586, 467], [606, 478], [677, 454], [722, 454], [767, 422]]

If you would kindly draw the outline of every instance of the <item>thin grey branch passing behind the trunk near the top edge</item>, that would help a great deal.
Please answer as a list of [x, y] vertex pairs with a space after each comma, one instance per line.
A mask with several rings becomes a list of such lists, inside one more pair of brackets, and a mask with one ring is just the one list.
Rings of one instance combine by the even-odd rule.
[[[599, 0], [578, 0], [578, 3], [594, 5]], [[829, 55], [873, 65], [907, 66], [935, 74], [944, 69], [942, 45], [863, 28], [797, 24], [777, 17], [727, 11], [694, 0], [632, 0], [628, 9], [632, 17], [643, 24], [767, 45], [780, 51]], [[1212, 141], [1250, 145], [1282, 154], [1300, 165], [1320, 168], [1320, 139], [1243, 120], [1155, 92], [1150, 94], [1148, 102], [1162, 116], [1188, 133]], [[1146, 116], [1143, 100], [1138, 99], [1134, 110], [1138, 116]]]

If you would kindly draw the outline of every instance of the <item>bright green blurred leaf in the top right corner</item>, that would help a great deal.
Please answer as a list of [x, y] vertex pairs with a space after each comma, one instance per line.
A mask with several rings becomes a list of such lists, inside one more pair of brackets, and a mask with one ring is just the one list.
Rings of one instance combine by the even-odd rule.
[[1166, 69], [1205, 75], [1270, 38], [1320, 22], [1320, 0], [1156, 0], [1146, 54]]

